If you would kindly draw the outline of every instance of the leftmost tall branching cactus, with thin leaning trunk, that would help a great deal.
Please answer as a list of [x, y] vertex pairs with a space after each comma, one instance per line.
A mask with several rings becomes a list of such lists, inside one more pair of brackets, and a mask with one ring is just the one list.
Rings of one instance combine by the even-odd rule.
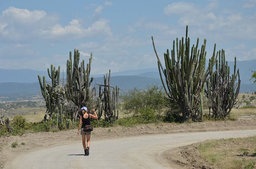
[[58, 70], [55, 66], [51, 65], [51, 72], [49, 68], [47, 69], [48, 75], [52, 80], [51, 85], [46, 83], [45, 76], [43, 76], [43, 83], [41, 77], [37, 75], [41, 92], [45, 100], [46, 112], [44, 115], [44, 121], [47, 120], [49, 115], [49, 120], [52, 118], [52, 114], [55, 112], [56, 108], [59, 107], [61, 96], [63, 93], [63, 87], [60, 85], [60, 66]]

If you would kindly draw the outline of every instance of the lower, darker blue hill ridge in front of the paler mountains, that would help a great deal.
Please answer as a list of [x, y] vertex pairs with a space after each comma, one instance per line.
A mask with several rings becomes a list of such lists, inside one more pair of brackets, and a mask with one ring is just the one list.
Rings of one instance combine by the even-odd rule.
[[[92, 87], [95, 83], [104, 84], [103, 77], [97, 77], [93, 80]], [[162, 82], [158, 78], [140, 77], [140, 76], [113, 76], [110, 85], [118, 85], [121, 94], [137, 87], [145, 89], [147, 85], [159, 84]], [[255, 92], [256, 84], [241, 84], [240, 93]], [[31, 100], [40, 98], [39, 83], [0, 83], [0, 100]]]

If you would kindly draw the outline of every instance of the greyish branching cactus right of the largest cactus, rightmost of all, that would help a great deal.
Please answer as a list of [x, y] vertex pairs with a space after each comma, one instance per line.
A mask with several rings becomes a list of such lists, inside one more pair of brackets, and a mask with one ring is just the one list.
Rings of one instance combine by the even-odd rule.
[[[219, 62], [216, 61], [215, 63], [217, 73], [207, 81], [205, 89], [206, 97], [210, 103], [209, 116], [212, 108], [212, 117], [214, 118], [226, 117], [230, 113], [236, 104], [241, 83], [239, 69], [236, 71], [236, 57], [234, 72], [230, 77], [230, 68], [225, 59], [225, 50], [218, 51], [217, 56], [218, 54]], [[210, 75], [212, 73], [211, 71]]]

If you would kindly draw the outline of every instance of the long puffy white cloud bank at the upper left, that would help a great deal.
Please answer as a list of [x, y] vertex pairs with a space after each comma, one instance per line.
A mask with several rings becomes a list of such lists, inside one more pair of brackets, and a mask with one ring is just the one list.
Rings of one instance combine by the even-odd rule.
[[99, 19], [84, 28], [78, 19], [68, 25], [58, 23], [58, 17], [45, 11], [29, 11], [10, 7], [0, 16], [0, 36], [6, 40], [80, 39], [98, 35], [112, 35], [106, 19]]

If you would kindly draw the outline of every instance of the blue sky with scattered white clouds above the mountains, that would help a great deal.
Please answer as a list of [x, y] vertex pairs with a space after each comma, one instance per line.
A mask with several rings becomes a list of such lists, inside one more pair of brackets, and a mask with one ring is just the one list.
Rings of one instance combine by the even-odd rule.
[[256, 0], [1, 0], [0, 68], [65, 71], [75, 48], [80, 61], [92, 52], [92, 74], [156, 68], [151, 36], [164, 62], [186, 25], [208, 58], [216, 43], [228, 61], [256, 59]]

